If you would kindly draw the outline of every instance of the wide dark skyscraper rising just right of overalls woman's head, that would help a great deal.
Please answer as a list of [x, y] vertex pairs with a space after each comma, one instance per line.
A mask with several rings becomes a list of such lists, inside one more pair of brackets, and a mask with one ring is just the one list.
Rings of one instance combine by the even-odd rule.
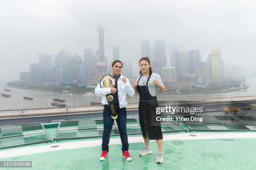
[[[165, 54], [165, 43], [164, 40], [157, 40], [155, 47], [155, 58], [158, 66], [160, 67], [160, 71], [162, 72], [162, 67], [166, 67], [166, 54]], [[162, 74], [160, 74], [162, 75]]]

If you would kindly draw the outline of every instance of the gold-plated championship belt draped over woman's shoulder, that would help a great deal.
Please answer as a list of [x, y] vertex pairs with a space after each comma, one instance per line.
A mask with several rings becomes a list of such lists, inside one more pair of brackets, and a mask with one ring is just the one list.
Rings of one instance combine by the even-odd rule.
[[[115, 78], [111, 75], [104, 75], [102, 79], [100, 80], [100, 88], [106, 88], [106, 87], [115, 87]], [[112, 119], [116, 119], [118, 117], [118, 114], [116, 112], [115, 108], [115, 100], [114, 95], [112, 93], [106, 95], [108, 100], [108, 108], [110, 110], [110, 114]]]

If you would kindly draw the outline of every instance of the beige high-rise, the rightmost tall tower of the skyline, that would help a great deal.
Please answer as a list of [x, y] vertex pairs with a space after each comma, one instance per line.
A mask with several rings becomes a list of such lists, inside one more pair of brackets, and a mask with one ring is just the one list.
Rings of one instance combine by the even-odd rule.
[[208, 62], [211, 82], [220, 82], [224, 70], [221, 60], [221, 51], [218, 49], [212, 50], [209, 54]]

